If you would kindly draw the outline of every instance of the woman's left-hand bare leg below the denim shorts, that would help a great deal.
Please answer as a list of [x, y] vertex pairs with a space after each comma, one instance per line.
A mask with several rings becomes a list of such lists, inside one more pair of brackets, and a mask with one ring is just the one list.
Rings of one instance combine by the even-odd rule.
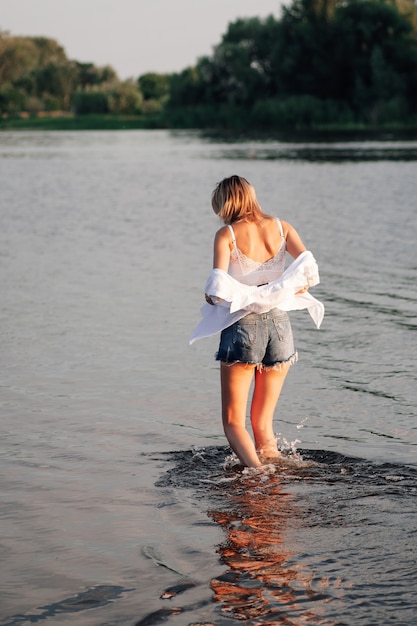
[[255, 366], [246, 363], [220, 364], [224, 433], [241, 463], [261, 465], [255, 445], [246, 430], [246, 408]]

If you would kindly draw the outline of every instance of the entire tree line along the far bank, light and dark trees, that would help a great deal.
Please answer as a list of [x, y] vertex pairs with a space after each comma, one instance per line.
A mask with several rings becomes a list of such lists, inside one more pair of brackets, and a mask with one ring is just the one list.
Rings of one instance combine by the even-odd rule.
[[238, 19], [210, 56], [121, 81], [54, 40], [0, 34], [0, 114], [135, 115], [177, 128], [417, 123], [413, 0], [293, 0]]

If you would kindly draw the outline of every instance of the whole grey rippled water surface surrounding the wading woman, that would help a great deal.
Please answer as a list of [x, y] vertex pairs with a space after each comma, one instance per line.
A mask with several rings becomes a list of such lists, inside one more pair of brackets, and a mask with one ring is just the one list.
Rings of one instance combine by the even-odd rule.
[[[0, 134], [0, 623], [412, 624], [417, 142]], [[320, 331], [275, 430], [224, 468], [192, 347], [238, 173], [318, 260]], [[294, 454], [295, 453], [295, 454]]]

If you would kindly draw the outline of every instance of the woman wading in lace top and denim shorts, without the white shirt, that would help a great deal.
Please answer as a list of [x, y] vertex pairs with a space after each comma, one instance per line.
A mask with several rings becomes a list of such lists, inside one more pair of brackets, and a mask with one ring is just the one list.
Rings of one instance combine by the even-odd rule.
[[[285, 269], [285, 251], [294, 259], [306, 251], [287, 222], [263, 213], [255, 190], [245, 178], [222, 180], [212, 194], [214, 212], [223, 226], [214, 239], [213, 269], [228, 272], [245, 285], [265, 285]], [[307, 290], [303, 287], [297, 293]], [[206, 294], [209, 304], [214, 304]], [[279, 456], [273, 417], [281, 389], [297, 360], [286, 312], [249, 313], [221, 333], [222, 419], [225, 435], [241, 463], [259, 467]], [[246, 407], [254, 377], [250, 419], [254, 442], [246, 429]]]

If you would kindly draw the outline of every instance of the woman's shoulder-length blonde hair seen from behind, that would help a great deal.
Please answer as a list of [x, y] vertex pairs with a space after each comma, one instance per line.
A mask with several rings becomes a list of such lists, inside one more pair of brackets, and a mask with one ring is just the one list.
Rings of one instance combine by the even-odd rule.
[[211, 205], [225, 224], [243, 218], [255, 221], [264, 216], [255, 189], [241, 176], [230, 176], [218, 183], [211, 196]]

